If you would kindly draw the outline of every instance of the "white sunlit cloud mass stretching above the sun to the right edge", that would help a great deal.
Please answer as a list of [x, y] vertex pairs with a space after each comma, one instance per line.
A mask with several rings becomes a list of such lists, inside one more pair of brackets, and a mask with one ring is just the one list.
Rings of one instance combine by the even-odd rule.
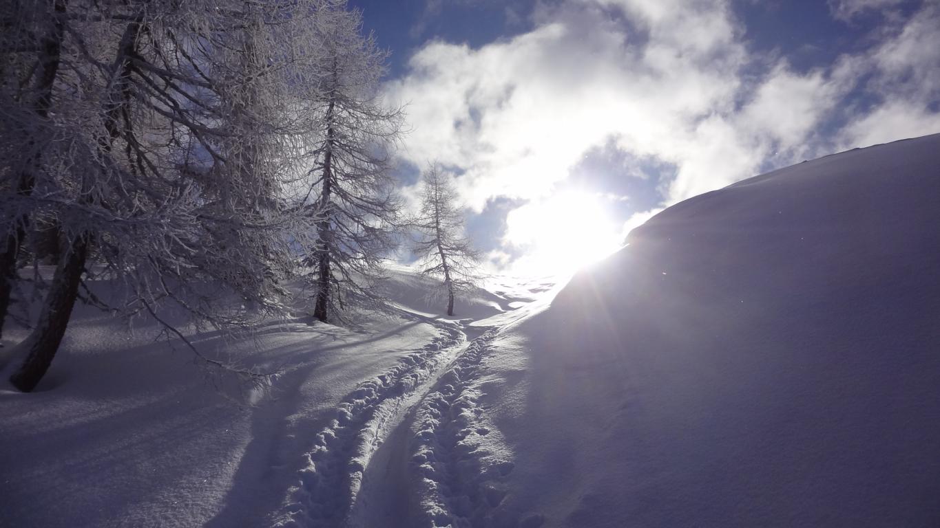
[[[570, 0], [541, 5], [535, 29], [480, 49], [428, 43], [385, 92], [409, 103], [413, 131], [401, 155], [462, 168], [459, 188], [477, 210], [498, 195], [551, 203], [556, 183], [606, 143], [674, 165], [675, 177], [661, 182], [664, 204], [673, 204], [768, 162], [823, 154], [820, 145], [935, 131], [937, 10], [923, 8], [870, 54], [796, 72], [748, 53], [729, 0]], [[820, 123], [858, 90], [884, 102], [843, 116], [835, 137], [818, 137]], [[514, 236], [523, 234], [509, 225], [508, 244]]]

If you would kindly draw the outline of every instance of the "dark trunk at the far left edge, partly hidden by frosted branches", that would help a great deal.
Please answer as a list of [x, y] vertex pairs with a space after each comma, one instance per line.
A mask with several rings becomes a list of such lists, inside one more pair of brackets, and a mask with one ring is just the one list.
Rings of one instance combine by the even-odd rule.
[[[56, 15], [65, 13], [65, 1], [56, 0], [54, 9]], [[42, 52], [39, 55], [40, 73], [34, 88], [37, 96], [33, 103], [33, 111], [39, 119], [43, 120], [49, 116], [49, 108], [52, 106], [53, 84], [58, 75], [59, 57], [62, 52], [62, 18], [60, 16], [51, 18], [51, 29], [42, 39]], [[27, 168], [20, 174], [17, 193], [23, 196], [32, 194], [36, 184], [34, 171], [38, 164], [39, 159], [35, 158], [28, 162]], [[26, 234], [26, 221], [26, 218], [14, 219], [15, 226], [9, 226], [10, 232], [7, 234], [3, 250], [0, 251], [0, 339], [3, 338], [3, 326], [7, 320], [10, 295], [17, 279], [17, 258], [20, 256], [20, 247], [23, 245]]]

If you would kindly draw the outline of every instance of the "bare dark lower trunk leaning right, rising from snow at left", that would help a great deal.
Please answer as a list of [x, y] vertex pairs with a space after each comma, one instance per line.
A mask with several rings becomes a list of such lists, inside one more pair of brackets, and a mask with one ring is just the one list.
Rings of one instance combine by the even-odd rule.
[[85, 270], [88, 256], [88, 240], [82, 234], [71, 243], [62, 262], [55, 268], [55, 277], [46, 295], [46, 304], [39, 314], [39, 323], [26, 339], [29, 355], [9, 381], [23, 392], [30, 392], [49, 370], [55, 351], [69, 325], [71, 309], [75, 306], [78, 286]]

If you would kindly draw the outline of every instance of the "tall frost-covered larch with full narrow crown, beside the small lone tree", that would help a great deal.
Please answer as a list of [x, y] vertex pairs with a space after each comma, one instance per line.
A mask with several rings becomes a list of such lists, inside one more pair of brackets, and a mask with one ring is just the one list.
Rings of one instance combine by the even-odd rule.
[[378, 94], [387, 53], [362, 35], [361, 15], [345, 0], [326, 4], [318, 18], [322, 96], [311, 115], [321, 127], [311, 169], [321, 219], [306, 258], [313, 316], [324, 322], [341, 319], [347, 307], [381, 302], [374, 283], [397, 245], [399, 217], [388, 150], [401, 127], [399, 110], [384, 108]]

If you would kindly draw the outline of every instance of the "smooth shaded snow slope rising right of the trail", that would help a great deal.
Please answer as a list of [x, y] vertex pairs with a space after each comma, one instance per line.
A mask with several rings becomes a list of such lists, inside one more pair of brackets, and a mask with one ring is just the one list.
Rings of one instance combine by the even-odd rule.
[[940, 134], [669, 207], [500, 339], [493, 525], [938, 526]]

